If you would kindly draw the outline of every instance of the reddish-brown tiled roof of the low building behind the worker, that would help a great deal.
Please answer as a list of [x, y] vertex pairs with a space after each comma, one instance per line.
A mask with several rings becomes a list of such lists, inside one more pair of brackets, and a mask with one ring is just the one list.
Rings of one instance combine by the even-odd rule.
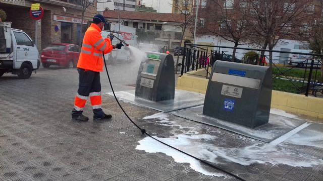
[[[104, 18], [118, 19], [119, 11], [106, 10], [103, 12]], [[127, 20], [141, 21], [158, 21], [158, 22], [182, 22], [184, 16], [182, 14], [172, 13], [152, 13], [152, 12], [131, 12], [120, 11], [120, 18]]]

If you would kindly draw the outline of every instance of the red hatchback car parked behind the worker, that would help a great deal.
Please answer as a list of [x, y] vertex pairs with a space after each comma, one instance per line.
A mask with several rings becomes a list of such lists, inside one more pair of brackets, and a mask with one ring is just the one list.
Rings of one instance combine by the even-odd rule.
[[80, 47], [68, 43], [49, 44], [41, 53], [42, 66], [59, 65], [74, 68], [80, 56]]

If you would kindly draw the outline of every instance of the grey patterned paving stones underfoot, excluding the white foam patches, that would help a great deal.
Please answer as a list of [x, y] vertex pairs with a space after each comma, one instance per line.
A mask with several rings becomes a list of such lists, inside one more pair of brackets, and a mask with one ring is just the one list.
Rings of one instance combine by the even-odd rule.
[[[120, 70], [120, 67], [116, 69]], [[118, 71], [119, 71], [118, 70]], [[126, 86], [117, 70], [112, 70], [116, 91]], [[113, 115], [111, 121], [93, 121], [90, 104], [84, 114], [88, 122], [70, 119], [77, 88], [75, 69], [38, 72], [30, 79], [0, 77], [0, 180], [237, 180], [202, 164], [208, 171], [226, 176], [207, 176], [177, 163], [164, 153], [136, 150], [145, 136], [122, 113], [113, 97], [102, 96], [102, 107]], [[102, 92], [111, 92], [101, 74]], [[160, 124], [142, 117], [157, 113], [130, 103], [121, 103], [129, 116], [153, 136], [177, 134], [216, 136], [212, 144], [240, 148], [258, 143], [227, 131], [169, 115], [174, 125]], [[125, 134], [120, 134], [125, 132]], [[283, 144], [302, 154], [321, 156], [322, 149]], [[285, 148], [285, 147], [284, 147]], [[253, 163], [243, 166], [225, 158], [214, 166], [231, 171], [246, 180], [323, 180], [322, 165], [292, 167], [285, 164]]]

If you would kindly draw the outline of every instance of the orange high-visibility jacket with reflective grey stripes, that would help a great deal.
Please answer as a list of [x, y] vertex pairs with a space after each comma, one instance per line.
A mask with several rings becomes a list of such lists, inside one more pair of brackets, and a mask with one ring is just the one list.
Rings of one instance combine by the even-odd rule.
[[78, 68], [96, 72], [103, 71], [102, 52], [104, 54], [111, 52], [113, 46], [111, 45], [110, 38], [103, 39], [100, 33], [101, 29], [93, 23], [86, 30], [77, 63]]

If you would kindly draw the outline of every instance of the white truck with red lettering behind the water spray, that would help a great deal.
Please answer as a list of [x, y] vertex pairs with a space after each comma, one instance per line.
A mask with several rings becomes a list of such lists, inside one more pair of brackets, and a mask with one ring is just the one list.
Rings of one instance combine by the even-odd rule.
[[[109, 31], [102, 31], [101, 35], [103, 38], [108, 37], [110, 33], [113, 33], [114, 36], [117, 36], [121, 40], [126, 41], [129, 45], [138, 47], [137, 43], [137, 36], [136, 36], [136, 29], [132, 27], [127, 26], [120, 26], [120, 32], [119, 32], [119, 25], [111, 24]], [[119, 40], [117, 38], [114, 38], [112, 40], [112, 44], [119, 43]], [[114, 63], [114, 62], [126, 62], [131, 63], [131, 51], [128, 47], [122, 47], [120, 50], [112, 50], [111, 53], [108, 53], [104, 55], [105, 60], [107, 60], [108, 63]]]

